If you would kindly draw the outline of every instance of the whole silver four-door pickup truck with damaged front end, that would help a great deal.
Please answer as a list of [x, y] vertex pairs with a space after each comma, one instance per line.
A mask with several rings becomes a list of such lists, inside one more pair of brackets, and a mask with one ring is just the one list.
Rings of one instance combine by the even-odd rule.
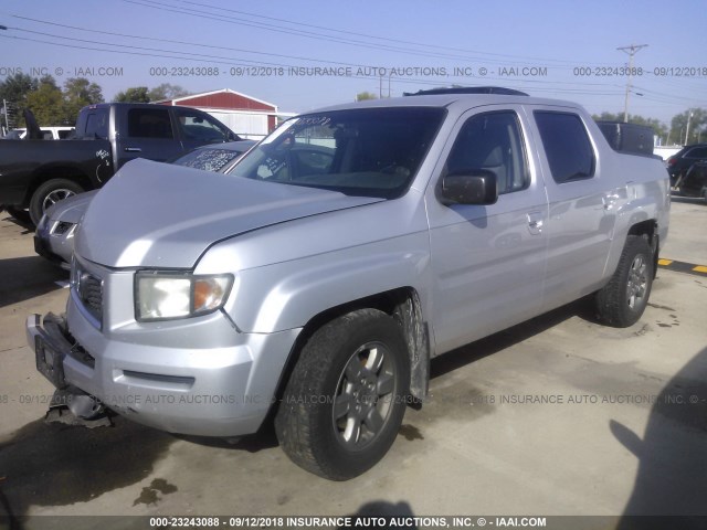
[[424, 401], [432, 358], [585, 296], [636, 322], [668, 211], [661, 161], [571, 103], [325, 108], [230, 174], [127, 165], [78, 230], [66, 314], [28, 339], [78, 415], [222, 437], [274, 417], [296, 464], [344, 480]]

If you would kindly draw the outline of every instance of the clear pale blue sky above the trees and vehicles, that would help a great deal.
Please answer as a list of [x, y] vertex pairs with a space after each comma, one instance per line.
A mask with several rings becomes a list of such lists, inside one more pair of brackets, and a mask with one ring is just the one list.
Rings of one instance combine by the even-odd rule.
[[283, 113], [439, 86], [506, 86], [666, 124], [707, 108], [704, 0], [2, 0], [0, 80], [162, 83]]

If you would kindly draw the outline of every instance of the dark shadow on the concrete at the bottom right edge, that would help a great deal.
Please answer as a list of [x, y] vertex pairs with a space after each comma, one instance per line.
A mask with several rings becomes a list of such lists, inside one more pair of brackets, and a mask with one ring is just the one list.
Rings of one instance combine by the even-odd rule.
[[639, 471], [620, 530], [636, 527], [631, 516], [701, 516], [674, 521], [705, 528], [707, 491], [707, 348], [656, 396], [643, 438], [619, 422], [609, 430], [639, 458]]

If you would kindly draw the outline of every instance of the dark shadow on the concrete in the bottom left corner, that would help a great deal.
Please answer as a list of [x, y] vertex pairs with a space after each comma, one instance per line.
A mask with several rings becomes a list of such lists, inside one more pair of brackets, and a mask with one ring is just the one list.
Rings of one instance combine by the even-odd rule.
[[114, 422], [89, 430], [38, 420], [0, 439], [0, 521], [20, 529], [31, 506], [87, 502], [150, 476], [175, 437]]

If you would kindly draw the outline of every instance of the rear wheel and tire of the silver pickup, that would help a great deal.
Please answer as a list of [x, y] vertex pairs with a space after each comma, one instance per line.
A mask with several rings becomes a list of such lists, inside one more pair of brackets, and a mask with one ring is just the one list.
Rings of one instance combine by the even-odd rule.
[[627, 328], [639, 321], [648, 304], [654, 263], [647, 237], [630, 235], [614, 275], [595, 295], [599, 319], [603, 324]]

